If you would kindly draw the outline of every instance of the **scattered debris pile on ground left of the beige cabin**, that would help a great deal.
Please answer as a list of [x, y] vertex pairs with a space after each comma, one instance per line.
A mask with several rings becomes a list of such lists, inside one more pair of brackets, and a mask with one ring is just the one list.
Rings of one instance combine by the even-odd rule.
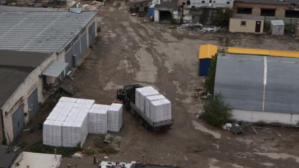
[[217, 32], [221, 31], [222, 29], [220, 27], [215, 27], [215, 26], [204, 26], [202, 24], [183, 24], [181, 25], [178, 30], [191, 30], [191, 31], [201, 31], [204, 33], [209, 33], [209, 32]]

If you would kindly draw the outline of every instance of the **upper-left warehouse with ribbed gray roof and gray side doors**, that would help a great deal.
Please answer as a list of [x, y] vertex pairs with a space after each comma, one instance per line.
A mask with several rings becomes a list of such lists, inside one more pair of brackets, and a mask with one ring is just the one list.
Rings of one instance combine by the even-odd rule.
[[95, 41], [97, 13], [3, 12], [0, 50], [58, 53], [70, 70]]

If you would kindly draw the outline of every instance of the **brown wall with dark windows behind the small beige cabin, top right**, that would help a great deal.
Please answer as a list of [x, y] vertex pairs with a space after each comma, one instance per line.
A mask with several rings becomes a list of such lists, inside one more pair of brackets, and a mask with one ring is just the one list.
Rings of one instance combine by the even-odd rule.
[[[279, 4], [263, 4], [263, 3], [244, 3], [236, 1], [234, 8], [252, 8], [252, 15], [261, 16], [261, 8], [272, 8], [276, 9], [275, 17], [285, 17], [285, 10], [291, 9], [288, 5]], [[236, 10], [237, 12], [237, 10]]]

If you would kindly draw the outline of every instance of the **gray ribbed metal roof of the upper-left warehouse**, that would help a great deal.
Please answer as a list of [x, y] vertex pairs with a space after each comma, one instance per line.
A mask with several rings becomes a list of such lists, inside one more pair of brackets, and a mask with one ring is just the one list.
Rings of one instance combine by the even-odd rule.
[[0, 13], [0, 50], [60, 53], [97, 13]]

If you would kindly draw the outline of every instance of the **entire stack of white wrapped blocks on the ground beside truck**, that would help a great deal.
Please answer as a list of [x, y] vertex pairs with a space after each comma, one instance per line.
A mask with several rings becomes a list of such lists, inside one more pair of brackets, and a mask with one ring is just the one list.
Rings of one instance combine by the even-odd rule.
[[106, 134], [110, 109], [110, 127], [118, 132], [122, 125], [122, 105], [97, 105], [94, 100], [61, 97], [43, 124], [43, 144], [76, 146], [88, 133]]

